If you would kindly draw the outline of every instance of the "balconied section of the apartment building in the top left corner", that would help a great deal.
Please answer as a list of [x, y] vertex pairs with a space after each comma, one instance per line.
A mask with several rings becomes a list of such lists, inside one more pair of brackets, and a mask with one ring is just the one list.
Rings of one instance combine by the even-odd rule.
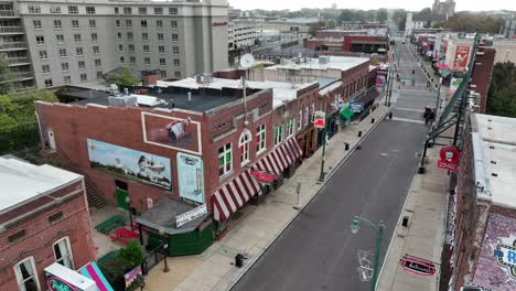
[[29, 46], [14, 1], [0, 1], [0, 54], [4, 54], [15, 88], [34, 85]]

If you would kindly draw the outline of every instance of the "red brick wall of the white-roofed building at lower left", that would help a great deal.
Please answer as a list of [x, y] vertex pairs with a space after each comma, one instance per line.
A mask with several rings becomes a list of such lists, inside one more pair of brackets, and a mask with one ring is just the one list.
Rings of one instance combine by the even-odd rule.
[[[53, 244], [66, 236], [69, 238], [76, 269], [95, 260], [95, 246], [83, 181], [62, 188], [52, 195], [63, 196], [77, 190], [82, 191], [82, 193], [39, 213], [26, 222], [20, 222], [14, 228], [0, 234], [0, 285], [2, 290], [18, 290], [13, 267], [31, 256], [34, 257], [40, 287], [45, 290], [43, 269], [55, 261]], [[41, 206], [49, 202], [49, 198], [40, 198], [36, 202]], [[63, 218], [51, 225], [47, 220], [49, 216], [60, 211], [63, 212]], [[25, 211], [14, 209], [12, 213], [22, 215]], [[12, 218], [12, 215], [8, 216]], [[2, 216], [0, 222], [4, 223], [8, 216]], [[21, 229], [25, 229], [25, 237], [9, 244], [8, 237]]]

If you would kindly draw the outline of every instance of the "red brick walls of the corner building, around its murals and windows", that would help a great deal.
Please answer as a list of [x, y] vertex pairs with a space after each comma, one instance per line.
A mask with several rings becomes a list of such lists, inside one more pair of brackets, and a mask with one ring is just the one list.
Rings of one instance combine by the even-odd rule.
[[[272, 93], [260, 91], [249, 96], [247, 100], [248, 112], [257, 112], [258, 119], [254, 120], [254, 114], [249, 114], [249, 129], [252, 134], [256, 133], [256, 127], [266, 122], [267, 127], [267, 148], [272, 144], [272, 126], [270, 112], [272, 110]], [[139, 211], [147, 209], [147, 198], [152, 198], [154, 203], [162, 196], [179, 200], [178, 191], [178, 171], [176, 154], [174, 149], [163, 148], [143, 142], [141, 112], [152, 111], [139, 107], [107, 107], [98, 108], [95, 106], [65, 106], [36, 104], [36, 110], [42, 123], [43, 138], [46, 137], [46, 130], [52, 129], [56, 141], [57, 151], [74, 164], [80, 172], [88, 177], [88, 182], [100, 192], [111, 205], [117, 205], [115, 180], [128, 183], [128, 192], [132, 207]], [[176, 118], [190, 117], [193, 121], [201, 122], [201, 136], [203, 144], [203, 163], [205, 174], [205, 197], [207, 205], [211, 205], [209, 195], [215, 192], [222, 183], [240, 173], [238, 138], [244, 128], [244, 103], [241, 100], [219, 107], [216, 110], [205, 115], [186, 114], [182, 111], [155, 114], [172, 116]], [[233, 132], [234, 131], [234, 132]], [[221, 134], [227, 134], [219, 140], [215, 140]], [[104, 171], [94, 170], [89, 165], [87, 149], [87, 139], [95, 139], [128, 149], [168, 158], [171, 161], [172, 169], [172, 191], [128, 181]], [[218, 177], [218, 148], [227, 142], [233, 142], [233, 173], [223, 180]], [[251, 162], [255, 158], [252, 149], [255, 141], [251, 142]]]

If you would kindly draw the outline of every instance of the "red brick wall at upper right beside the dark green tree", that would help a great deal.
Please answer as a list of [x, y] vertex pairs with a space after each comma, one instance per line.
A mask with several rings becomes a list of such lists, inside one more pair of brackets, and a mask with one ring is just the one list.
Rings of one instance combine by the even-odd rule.
[[[493, 73], [496, 50], [493, 47], [479, 47], [481, 54], [475, 55], [474, 68], [472, 73], [472, 85], [476, 85], [474, 90], [481, 95], [480, 112], [485, 114], [487, 105], [487, 91], [490, 90], [491, 75]], [[483, 53], [483, 54], [482, 54]]]

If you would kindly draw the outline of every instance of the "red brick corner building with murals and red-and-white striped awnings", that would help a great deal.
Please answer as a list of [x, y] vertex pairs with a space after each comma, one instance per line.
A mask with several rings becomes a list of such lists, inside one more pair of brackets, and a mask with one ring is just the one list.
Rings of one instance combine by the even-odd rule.
[[[289, 95], [292, 85], [248, 86], [246, 103], [239, 86], [233, 79], [189, 78], [158, 82], [153, 96], [37, 103], [43, 144], [72, 161], [111, 205], [144, 214], [161, 208], [163, 198], [178, 203], [175, 209], [205, 204], [223, 230], [232, 214], [269, 190], [251, 170], [280, 180], [300, 158], [298, 143], [283, 136], [282, 144], [275, 144], [272, 130], [273, 91], [297, 98], [297, 90]], [[212, 227], [196, 228], [198, 223], [165, 231], [198, 233], [192, 244], [202, 244], [202, 251]]]

